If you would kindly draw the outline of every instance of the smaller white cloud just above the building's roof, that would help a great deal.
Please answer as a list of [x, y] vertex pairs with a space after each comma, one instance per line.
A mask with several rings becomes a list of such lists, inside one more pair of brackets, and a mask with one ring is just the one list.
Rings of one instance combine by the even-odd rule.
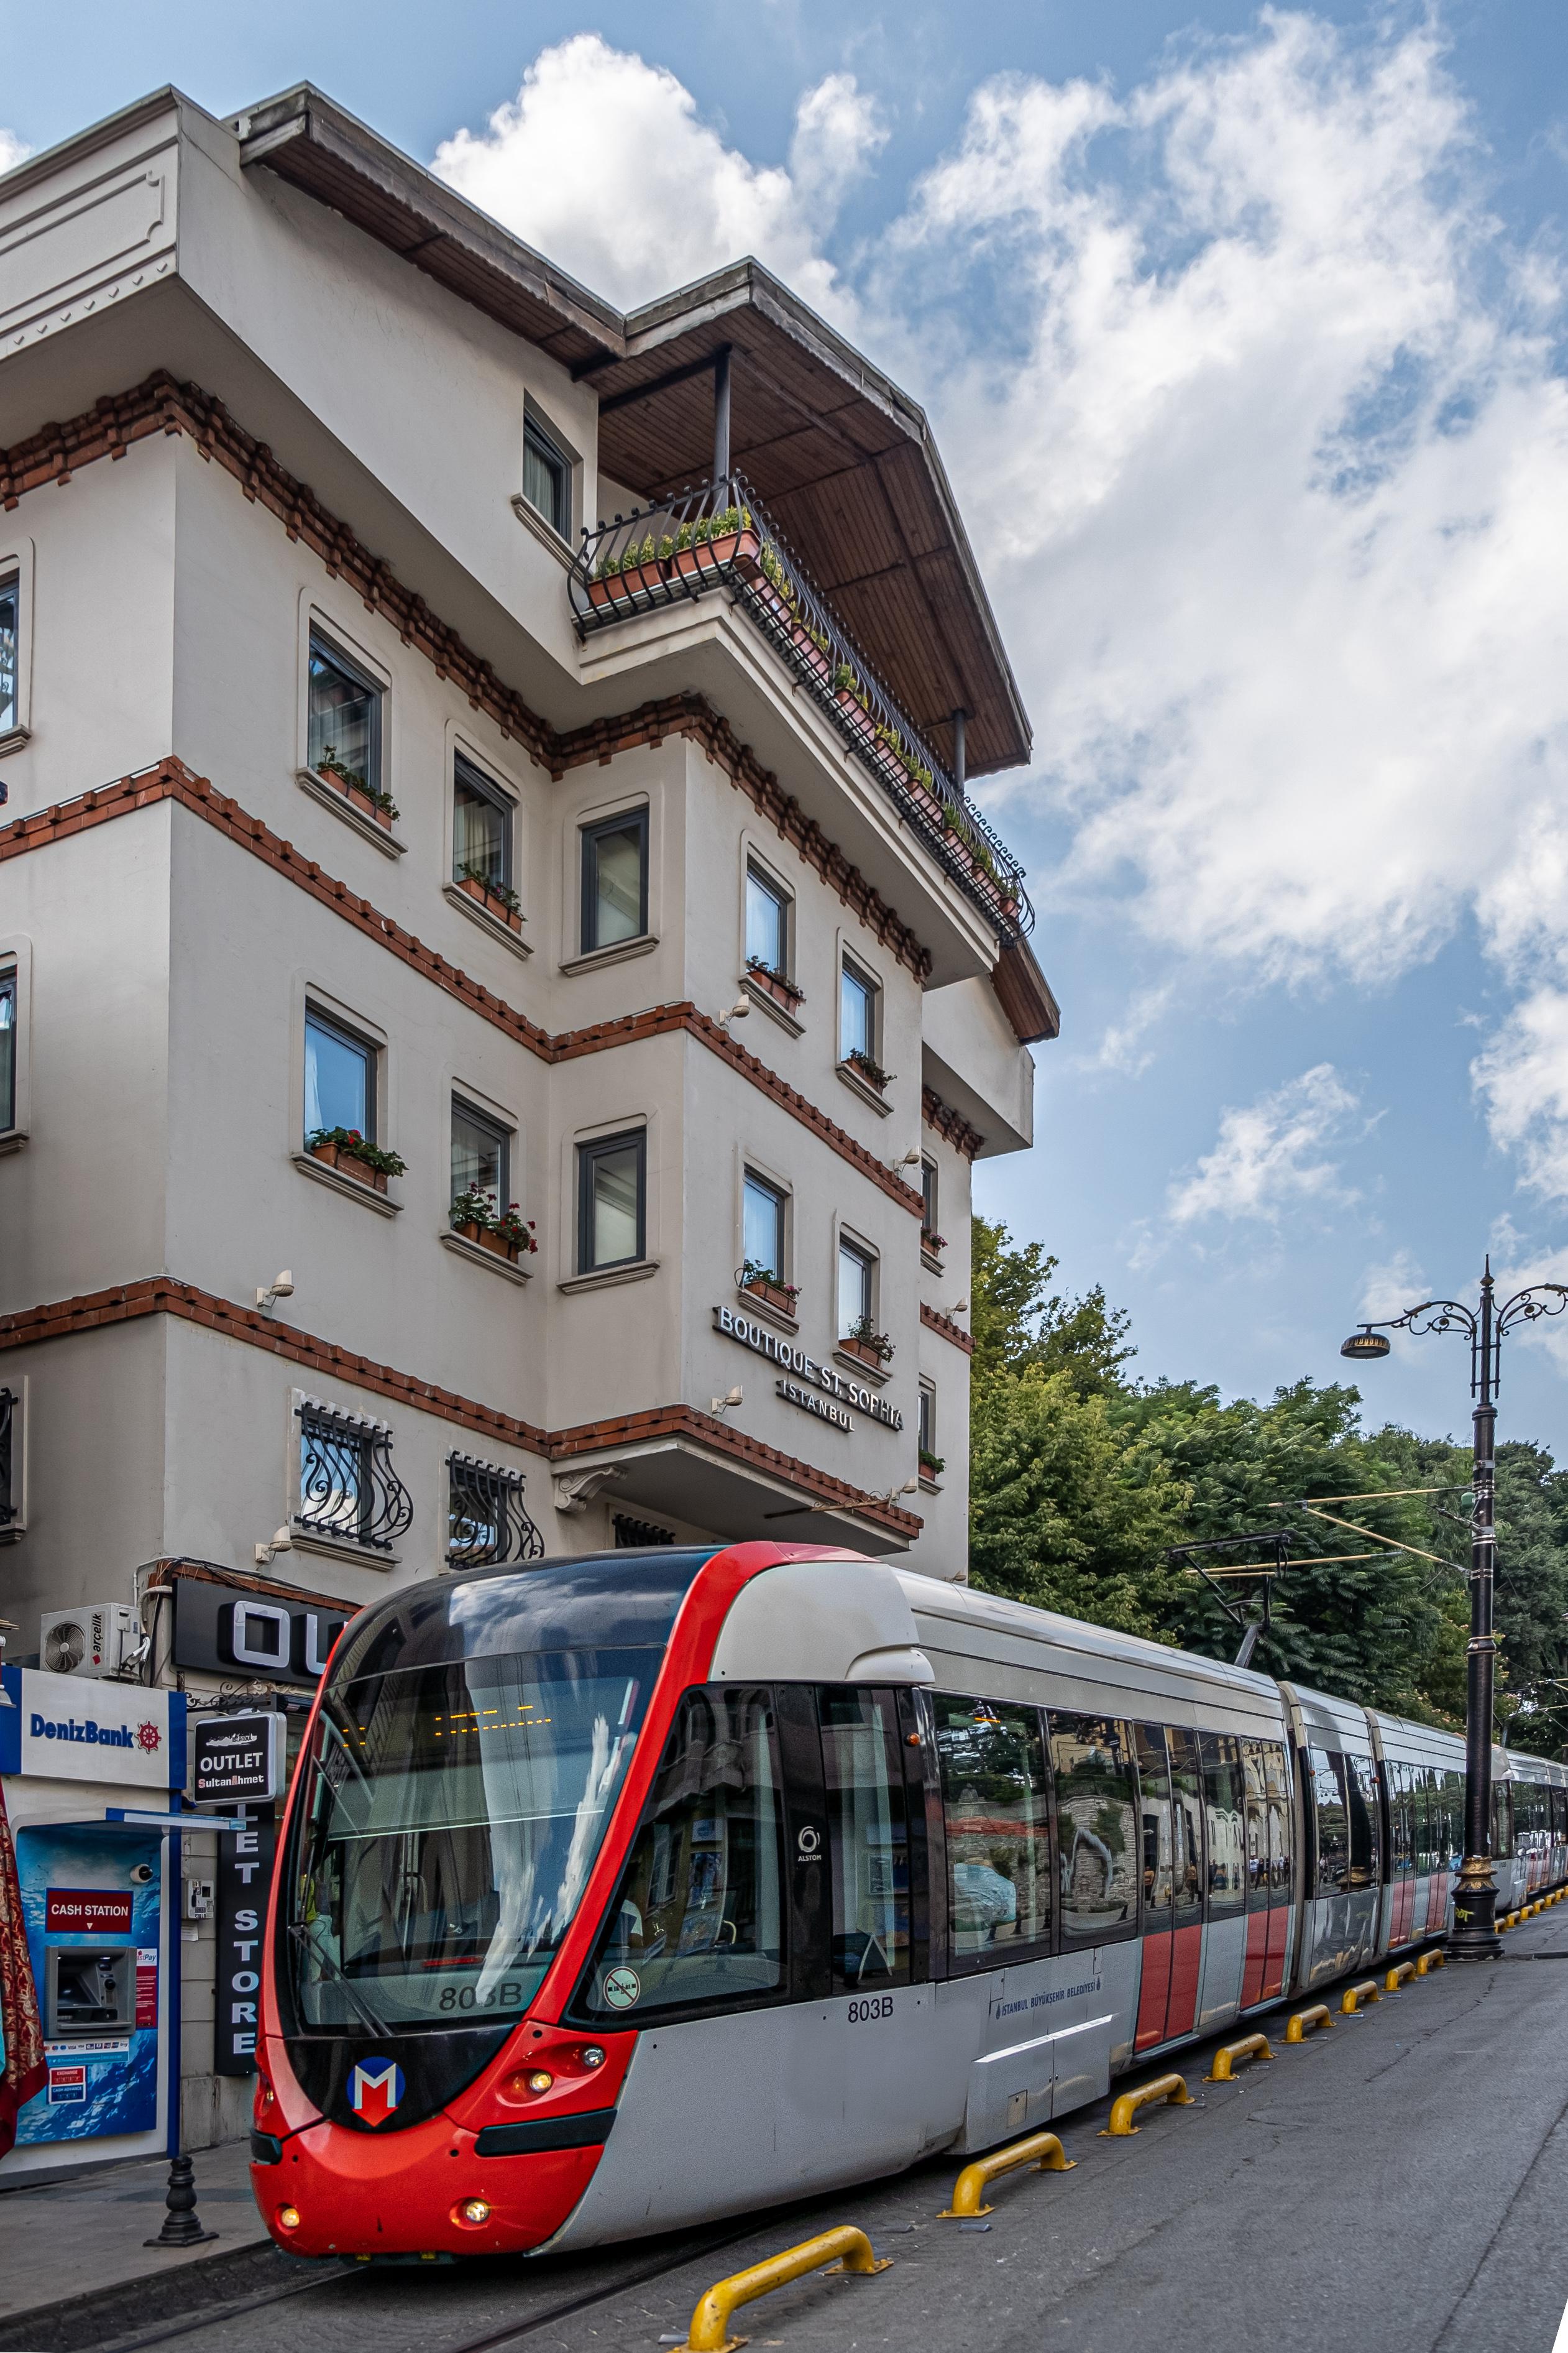
[[616, 304], [755, 254], [844, 318], [820, 240], [884, 139], [853, 75], [830, 73], [799, 101], [790, 167], [752, 165], [663, 66], [574, 33], [536, 56], [484, 132], [444, 139], [433, 169]]

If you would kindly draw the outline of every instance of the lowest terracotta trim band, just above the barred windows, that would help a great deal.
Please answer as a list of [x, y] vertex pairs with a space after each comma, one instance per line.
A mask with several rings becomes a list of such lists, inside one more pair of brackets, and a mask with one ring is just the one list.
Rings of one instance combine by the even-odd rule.
[[393, 1365], [378, 1365], [353, 1348], [339, 1348], [313, 1332], [296, 1332], [292, 1325], [280, 1325], [270, 1315], [237, 1306], [233, 1299], [219, 1299], [216, 1292], [202, 1292], [193, 1282], [176, 1282], [174, 1275], [148, 1275], [143, 1282], [125, 1282], [103, 1292], [85, 1292], [75, 1299], [24, 1308], [16, 1315], [0, 1315], [0, 1351], [28, 1348], [47, 1339], [71, 1339], [78, 1332], [99, 1332], [106, 1325], [136, 1322], [143, 1315], [176, 1315], [183, 1322], [219, 1332], [223, 1339], [237, 1339], [249, 1348], [303, 1365], [327, 1381], [348, 1381], [355, 1388], [369, 1388], [378, 1398], [390, 1398], [393, 1405], [435, 1414], [482, 1438], [524, 1447], [529, 1454], [543, 1454], [552, 1464], [574, 1461], [602, 1447], [635, 1445], [646, 1438], [693, 1438], [715, 1454], [726, 1454], [731, 1461], [785, 1480], [818, 1504], [837, 1511], [856, 1511], [891, 1534], [914, 1539], [924, 1525], [912, 1511], [865, 1494], [860, 1487], [851, 1487], [849, 1480], [835, 1478], [830, 1471], [818, 1471], [816, 1464], [804, 1464], [778, 1447], [764, 1445], [762, 1438], [748, 1438], [745, 1431], [733, 1431], [726, 1421], [703, 1414], [693, 1405], [661, 1405], [651, 1412], [614, 1414], [607, 1421], [581, 1421], [574, 1428], [543, 1431], [534, 1421], [503, 1414], [496, 1405], [480, 1405], [451, 1388], [440, 1388], [435, 1381], [418, 1381]]

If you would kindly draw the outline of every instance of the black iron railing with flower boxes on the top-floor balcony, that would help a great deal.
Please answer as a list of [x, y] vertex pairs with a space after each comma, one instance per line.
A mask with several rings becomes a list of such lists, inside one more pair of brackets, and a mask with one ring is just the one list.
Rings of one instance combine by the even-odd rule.
[[1027, 932], [1034, 908], [1023, 866], [867, 668], [743, 475], [701, 482], [677, 499], [635, 506], [630, 515], [583, 529], [569, 593], [578, 633], [588, 635], [715, 588], [736, 595], [910, 828], [1004, 939]]

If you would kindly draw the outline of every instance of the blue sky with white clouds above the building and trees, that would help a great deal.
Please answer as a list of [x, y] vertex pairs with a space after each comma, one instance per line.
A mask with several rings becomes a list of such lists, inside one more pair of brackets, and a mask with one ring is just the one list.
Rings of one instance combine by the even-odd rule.
[[[1335, 1377], [1486, 1247], [1568, 1280], [1561, 0], [87, 0], [5, 54], [31, 148], [310, 78], [616, 299], [757, 252], [926, 405], [1065, 1009], [980, 1205], [1140, 1372]], [[1363, 1391], [1458, 1431], [1462, 1351]], [[1568, 1457], [1566, 1400], [1516, 1344], [1505, 1435]]]

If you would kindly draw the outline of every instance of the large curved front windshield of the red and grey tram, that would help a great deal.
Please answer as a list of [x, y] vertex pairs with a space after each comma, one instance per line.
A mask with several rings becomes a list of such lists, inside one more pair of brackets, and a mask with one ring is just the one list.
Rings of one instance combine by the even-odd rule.
[[661, 1657], [465, 1659], [322, 1697], [277, 1953], [299, 2031], [418, 2033], [527, 2009]]

